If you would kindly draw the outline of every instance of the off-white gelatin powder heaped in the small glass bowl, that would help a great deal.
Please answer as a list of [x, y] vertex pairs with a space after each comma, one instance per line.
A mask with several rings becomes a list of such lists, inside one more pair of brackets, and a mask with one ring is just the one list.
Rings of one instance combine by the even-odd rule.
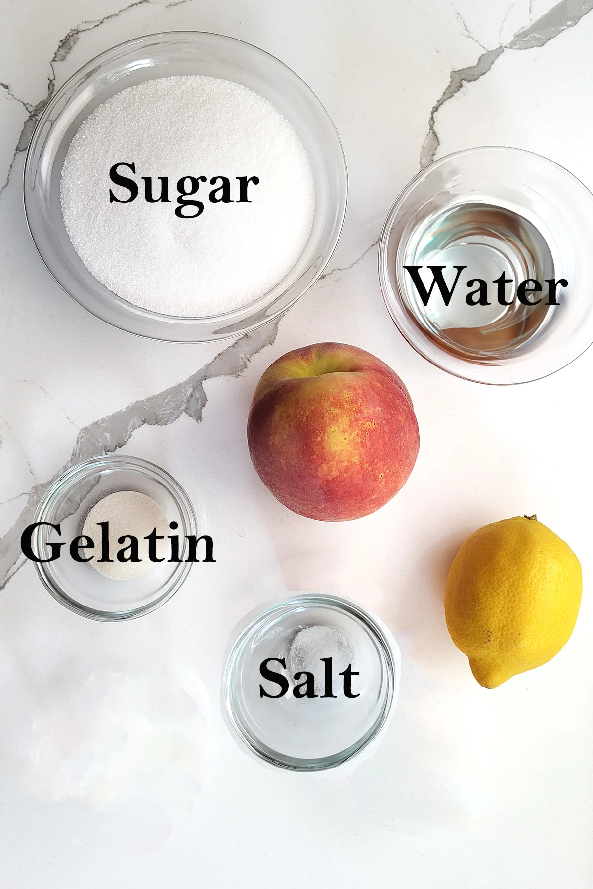
[[[109, 557], [112, 562], [100, 562], [101, 527], [99, 522], [108, 522]], [[94, 549], [85, 549], [85, 557], [92, 555], [89, 565], [108, 577], [111, 581], [132, 581], [153, 571], [156, 564], [148, 558], [148, 541], [144, 537], [156, 528], [156, 533], [164, 537], [156, 541], [156, 557], [165, 558], [169, 552], [169, 523], [158, 503], [139, 491], [116, 491], [103, 497], [90, 510], [84, 519], [82, 534], [94, 542]], [[118, 543], [118, 538], [133, 535], [138, 540], [138, 555], [141, 562], [120, 562], [117, 550], [124, 549], [129, 540]], [[128, 550], [125, 554], [130, 555]]]

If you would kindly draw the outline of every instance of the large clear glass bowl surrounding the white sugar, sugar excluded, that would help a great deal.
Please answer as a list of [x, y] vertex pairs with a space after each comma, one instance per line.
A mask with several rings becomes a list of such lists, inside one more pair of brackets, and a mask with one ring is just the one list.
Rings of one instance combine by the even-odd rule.
[[[133, 306], [92, 276], [70, 243], [60, 204], [68, 146], [94, 108], [124, 88], [156, 77], [209, 75], [243, 84], [268, 99], [292, 124], [309, 153], [316, 212], [301, 258], [284, 279], [251, 305], [211, 317], [176, 317]], [[325, 108], [281, 61], [232, 37], [171, 31], [137, 37], [87, 62], [44, 108], [28, 148], [24, 200], [37, 251], [60, 286], [93, 315], [157, 340], [218, 340], [281, 316], [317, 281], [341, 234], [348, 173], [338, 133]]]

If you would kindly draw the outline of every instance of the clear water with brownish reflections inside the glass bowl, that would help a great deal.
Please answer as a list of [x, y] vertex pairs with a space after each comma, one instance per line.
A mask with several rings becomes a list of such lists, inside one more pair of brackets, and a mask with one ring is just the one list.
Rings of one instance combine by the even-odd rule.
[[[429, 265], [445, 266], [443, 276], [448, 287], [457, 274], [454, 266], [467, 266], [461, 271], [448, 306], [437, 284], [425, 307], [405, 269], [400, 278], [405, 291], [402, 295], [416, 323], [441, 348], [457, 355], [480, 356], [483, 360], [509, 356], [541, 333], [554, 309], [545, 305], [545, 280], [554, 277], [549, 245], [532, 222], [505, 207], [474, 201], [429, 215], [413, 230], [402, 259], [403, 265], [424, 267], [420, 275], [427, 290], [433, 282]], [[511, 302], [508, 306], [497, 300], [497, 285], [493, 284], [501, 273], [511, 281], [504, 292]], [[490, 305], [468, 305], [466, 296], [477, 288], [477, 284], [468, 286], [472, 278], [487, 282]], [[517, 285], [526, 278], [542, 284], [541, 293], [528, 296], [530, 300], [541, 297], [538, 305], [525, 306], [517, 300]], [[558, 301], [561, 293], [558, 287]]]

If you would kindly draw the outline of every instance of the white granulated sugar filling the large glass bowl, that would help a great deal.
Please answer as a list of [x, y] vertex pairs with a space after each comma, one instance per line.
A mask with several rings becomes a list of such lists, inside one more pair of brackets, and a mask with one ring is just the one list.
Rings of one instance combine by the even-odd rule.
[[[138, 196], [109, 179], [135, 164]], [[142, 177], [169, 180], [171, 203], [145, 200]], [[180, 219], [178, 180], [205, 176], [204, 211]], [[230, 180], [234, 203], [214, 204], [213, 177]], [[237, 203], [236, 177], [257, 176], [252, 203]], [[220, 181], [216, 183], [220, 185]], [[187, 186], [188, 187], [188, 186]], [[92, 275], [122, 299], [164, 315], [204, 317], [249, 305], [301, 256], [315, 213], [309, 155], [292, 125], [259, 93], [218, 77], [172, 76], [118, 92], [84, 120], [61, 178], [68, 235]], [[189, 212], [189, 211], [187, 211]]]

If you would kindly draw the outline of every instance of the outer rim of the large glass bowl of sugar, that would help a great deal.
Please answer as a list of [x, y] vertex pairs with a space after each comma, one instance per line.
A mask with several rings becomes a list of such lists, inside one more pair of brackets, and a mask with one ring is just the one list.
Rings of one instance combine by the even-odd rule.
[[[89, 306], [80, 302], [73, 293], [69, 292], [69, 290], [66, 288], [66, 286], [60, 280], [60, 277], [56, 276], [56, 274], [54, 274], [52, 269], [48, 266], [48, 264], [44, 258], [44, 255], [41, 252], [41, 250], [37, 244], [36, 236], [33, 234], [33, 228], [31, 226], [31, 221], [29, 220], [29, 212], [28, 212], [27, 183], [28, 183], [28, 180], [30, 180], [30, 178], [31, 178], [31, 172], [35, 172], [35, 171], [31, 170], [31, 167], [33, 166], [33, 154], [34, 154], [34, 150], [36, 148], [36, 144], [40, 138], [40, 134], [43, 131], [44, 126], [47, 124], [48, 120], [50, 120], [50, 118], [52, 116], [53, 109], [58, 104], [58, 102], [60, 102], [60, 100], [62, 99], [62, 96], [64, 95], [65, 92], [68, 91], [68, 88], [70, 88], [72, 86], [72, 84], [74, 84], [76, 81], [78, 81], [81, 77], [92, 74], [92, 72], [96, 71], [104, 61], [111, 59], [111, 57], [113, 55], [116, 55], [118, 52], [121, 52], [122, 50], [131, 50], [132, 51], [137, 46], [142, 46], [143, 44], [153, 44], [153, 45], [154, 44], [166, 44], [167, 42], [174, 41], [175, 39], [180, 40], [183, 38], [191, 39], [191, 38], [199, 38], [199, 37], [213, 38], [214, 41], [220, 41], [223, 44], [239, 44], [241, 46], [247, 47], [249, 52], [255, 52], [262, 57], [267, 57], [269, 60], [272, 60], [273, 64], [284, 68], [284, 70], [286, 72], [288, 72], [289, 76], [291, 76], [295, 80], [295, 82], [298, 82], [300, 84], [301, 89], [309, 96], [309, 99], [312, 100], [313, 104], [317, 105], [317, 108], [323, 113], [323, 116], [325, 116], [325, 121], [328, 125], [328, 130], [331, 132], [332, 138], [335, 140], [334, 147], [336, 148], [336, 151], [335, 151], [335, 156], [333, 158], [333, 161], [334, 161], [336, 169], [339, 168], [339, 171], [340, 171], [340, 178], [341, 178], [340, 191], [341, 191], [341, 193], [339, 195], [339, 200], [338, 200], [338, 204], [337, 204], [336, 221], [335, 221], [335, 225], [333, 227], [333, 233], [330, 238], [329, 247], [328, 247], [328, 250], [325, 254], [325, 257], [323, 257], [322, 261], [320, 261], [317, 264], [316, 271], [315, 271], [314, 275], [311, 276], [311, 279], [308, 282], [308, 284], [305, 286], [305, 288], [301, 292], [299, 292], [296, 296], [294, 296], [293, 299], [289, 303], [287, 303], [286, 305], [283, 305], [280, 308], [274, 309], [274, 311], [270, 312], [269, 314], [266, 314], [265, 316], [261, 316], [258, 320], [254, 321], [252, 323], [242, 324], [239, 321], [235, 325], [236, 329], [228, 331], [228, 332], [226, 332], [226, 331], [222, 332], [222, 333], [214, 332], [210, 336], [199, 336], [196, 332], [193, 337], [181, 337], [180, 335], [177, 335], [177, 336], [172, 335], [172, 333], [173, 333], [172, 331], [167, 332], [169, 335], [165, 335], [165, 330], [163, 330], [161, 333], [156, 333], [156, 332], [147, 333], [147, 332], [142, 332], [140, 330], [133, 330], [132, 329], [133, 322], [128, 322], [125, 325], [124, 324], [121, 324], [121, 325], [116, 324], [115, 322], [102, 317], [100, 314], [98, 314], [97, 311], [94, 311], [93, 308], [89, 308]], [[123, 87], [123, 89], [125, 89], [125, 86]], [[112, 46], [108, 47], [108, 49], [103, 50], [102, 52], [93, 56], [91, 59], [84, 62], [84, 64], [81, 65], [80, 68], [77, 68], [76, 71], [73, 74], [71, 74], [63, 84], [61, 84], [60, 88], [58, 90], [56, 90], [56, 92], [53, 93], [52, 98], [47, 102], [43, 111], [37, 118], [36, 125], [33, 129], [33, 132], [31, 133], [31, 137], [29, 139], [28, 148], [27, 148], [27, 154], [25, 157], [25, 164], [24, 164], [24, 168], [23, 168], [21, 192], [22, 192], [22, 201], [23, 201], [24, 212], [25, 212], [25, 220], [27, 222], [27, 228], [28, 228], [29, 235], [31, 236], [33, 244], [35, 244], [36, 252], [39, 255], [42, 262], [44, 263], [45, 268], [50, 273], [53, 280], [56, 282], [56, 284], [59, 284], [60, 289], [63, 292], [67, 293], [67, 295], [70, 297], [70, 299], [74, 300], [77, 305], [79, 305], [81, 308], [84, 308], [85, 311], [89, 312], [89, 314], [91, 314], [92, 316], [98, 318], [104, 324], [109, 324], [109, 326], [116, 327], [119, 330], [123, 330], [124, 332], [132, 333], [135, 336], [140, 336], [145, 339], [161, 340], [161, 341], [166, 341], [166, 342], [213, 342], [216, 340], [228, 340], [228, 339], [232, 339], [233, 337], [240, 337], [246, 333], [250, 333], [252, 331], [257, 330], [264, 324], [269, 324], [269, 323], [276, 321], [278, 318], [281, 318], [282, 316], [284, 316], [284, 314], [290, 308], [292, 308], [292, 306], [294, 306], [294, 304], [296, 302], [298, 302], [298, 300], [301, 300], [301, 297], [304, 296], [305, 293], [309, 292], [309, 290], [311, 289], [311, 287], [313, 287], [314, 284], [317, 284], [317, 281], [323, 276], [325, 269], [327, 268], [330, 260], [333, 257], [333, 253], [335, 252], [335, 249], [340, 241], [341, 233], [344, 228], [344, 223], [346, 220], [346, 213], [348, 210], [349, 173], [348, 173], [348, 165], [346, 162], [346, 155], [345, 155], [344, 148], [343, 148], [341, 138], [340, 138], [340, 133], [338, 132], [335, 124], [333, 123], [332, 117], [329, 115], [327, 108], [325, 108], [325, 105], [323, 104], [323, 102], [317, 96], [317, 93], [314, 92], [314, 90], [309, 86], [309, 84], [300, 75], [298, 75], [296, 73], [296, 71], [294, 71], [289, 65], [287, 65], [281, 59], [278, 59], [277, 56], [275, 56], [273, 53], [268, 52], [267, 50], [263, 50], [259, 46], [256, 46], [255, 44], [251, 44], [246, 40], [241, 40], [238, 37], [231, 37], [231, 36], [228, 36], [225, 34], [219, 34], [215, 31], [172, 30], [172, 31], [156, 31], [151, 34], [132, 37], [130, 40], [124, 40], [118, 44], [113, 44]], [[90, 273], [90, 274], [92, 274], [92, 273]], [[303, 272], [303, 274], [304, 274], [304, 272]], [[97, 280], [97, 279], [95, 279], [95, 280]], [[296, 284], [296, 282], [294, 282], [291, 286], [293, 286], [294, 284]], [[276, 286], [277, 286], [277, 284], [276, 284]], [[106, 288], [106, 289], [108, 290], [108, 288]], [[272, 288], [272, 290], [274, 290], [274, 288]], [[110, 291], [108, 291], [108, 292], [110, 292]], [[122, 300], [122, 298], [118, 297], [116, 293], [113, 293], [112, 295], [116, 298], [116, 300]], [[197, 330], [197, 329], [199, 329], [201, 324], [206, 324], [209, 322], [219, 324], [219, 325], [221, 325], [221, 324], [223, 325], [223, 324], [225, 324], [225, 322], [229, 322], [231, 324], [231, 326], [233, 326], [232, 322], [236, 317], [236, 312], [243, 311], [246, 308], [254, 308], [255, 310], [259, 310], [260, 315], [261, 315], [263, 313], [263, 310], [266, 308], [266, 303], [264, 301], [266, 295], [267, 294], [265, 294], [265, 293], [262, 294], [258, 298], [258, 300], [253, 300], [251, 304], [249, 304], [243, 308], [239, 308], [239, 309], [236, 309], [232, 312], [223, 313], [223, 314], [214, 315], [214, 316], [196, 316], [196, 317], [172, 316], [172, 315], [166, 315], [163, 313], [153, 312], [150, 309], [135, 306], [132, 303], [130, 303], [129, 305], [132, 306], [132, 308], [134, 309], [134, 311], [136, 312], [137, 315], [144, 316], [144, 317], [150, 319], [151, 321], [154, 321], [156, 324], [175, 324], [176, 326], [182, 327], [183, 329], [186, 329], [186, 330], [190, 330], [192, 327], [196, 328], [196, 330]], [[282, 295], [282, 293], [276, 294], [275, 299], [276, 300], [279, 299], [281, 297], [281, 295]], [[122, 300], [122, 301], [124, 301], [124, 303], [127, 302], [127, 300]], [[248, 319], [245, 319], [245, 321], [247, 321], [247, 320]]]

